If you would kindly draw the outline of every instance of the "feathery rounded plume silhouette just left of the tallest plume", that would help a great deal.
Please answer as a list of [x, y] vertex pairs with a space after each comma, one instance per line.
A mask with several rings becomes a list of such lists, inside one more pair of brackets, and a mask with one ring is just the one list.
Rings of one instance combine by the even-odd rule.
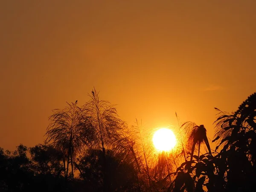
[[50, 124], [46, 133], [47, 143], [51, 143], [64, 154], [63, 164], [66, 178], [70, 163], [72, 177], [74, 177], [73, 162], [76, 160], [77, 154], [85, 146], [90, 145], [95, 135], [88, 117], [83, 115], [81, 108], [76, 105], [77, 102], [67, 104], [68, 106], [63, 110], [53, 110], [53, 114], [49, 117]]

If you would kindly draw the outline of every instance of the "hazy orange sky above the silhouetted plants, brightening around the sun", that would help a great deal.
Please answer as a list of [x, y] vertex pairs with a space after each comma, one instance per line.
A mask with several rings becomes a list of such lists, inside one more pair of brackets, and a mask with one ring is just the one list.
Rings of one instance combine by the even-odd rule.
[[83, 104], [93, 86], [129, 125], [177, 125], [177, 111], [212, 139], [214, 107], [235, 111], [256, 91], [255, 10], [255, 0], [0, 1], [0, 147], [42, 143], [51, 110]]

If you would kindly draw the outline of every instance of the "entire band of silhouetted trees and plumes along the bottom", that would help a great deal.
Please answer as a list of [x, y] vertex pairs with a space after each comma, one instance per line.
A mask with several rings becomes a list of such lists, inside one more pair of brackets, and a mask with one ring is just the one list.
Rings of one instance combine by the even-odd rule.
[[0, 148], [0, 192], [256, 191], [256, 93], [233, 113], [215, 108], [215, 149], [204, 125], [185, 122], [162, 153], [140, 122], [129, 127], [95, 89], [89, 96], [53, 110], [44, 144]]

